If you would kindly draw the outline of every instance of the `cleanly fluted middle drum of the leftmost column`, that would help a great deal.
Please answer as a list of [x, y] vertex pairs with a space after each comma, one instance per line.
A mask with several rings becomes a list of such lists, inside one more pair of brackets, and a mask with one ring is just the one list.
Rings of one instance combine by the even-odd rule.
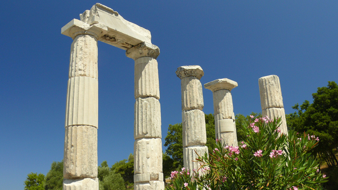
[[98, 126], [98, 81], [91, 77], [68, 80], [66, 123]]

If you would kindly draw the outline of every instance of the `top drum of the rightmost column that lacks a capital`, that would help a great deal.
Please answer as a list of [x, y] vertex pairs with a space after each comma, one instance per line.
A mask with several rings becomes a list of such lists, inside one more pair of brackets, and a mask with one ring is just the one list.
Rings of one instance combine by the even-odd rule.
[[279, 78], [276, 75], [259, 78], [258, 83], [262, 110], [271, 107], [283, 107]]

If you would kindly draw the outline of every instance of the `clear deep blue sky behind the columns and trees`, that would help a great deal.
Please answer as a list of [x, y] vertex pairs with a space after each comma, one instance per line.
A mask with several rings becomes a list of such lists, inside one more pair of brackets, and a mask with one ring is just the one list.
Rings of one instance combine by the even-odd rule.
[[[238, 82], [234, 112], [260, 112], [258, 79], [277, 75], [286, 113], [327, 81], [338, 82], [336, 1], [4, 1], [0, 7], [0, 189], [23, 189], [64, 155], [72, 39], [61, 28], [101, 3], [150, 30], [157, 58], [162, 143], [182, 121], [180, 66], [199, 65], [201, 83]], [[134, 60], [98, 43], [98, 164], [133, 153]], [[203, 89], [205, 113], [212, 93]], [[163, 149], [164, 151], [164, 149]]]

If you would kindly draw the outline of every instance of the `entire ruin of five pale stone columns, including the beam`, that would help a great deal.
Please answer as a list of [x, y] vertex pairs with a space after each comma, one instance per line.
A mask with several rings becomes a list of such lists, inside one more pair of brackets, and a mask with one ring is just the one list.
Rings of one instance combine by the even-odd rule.
[[[118, 12], [95, 4], [61, 29], [73, 38], [67, 87], [63, 189], [98, 190], [97, 42], [126, 50], [135, 61], [134, 189], [164, 189], [162, 173], [161, 114], [156, 58], [159, 48], [151, 44], [148, 30], [126, 21]], [[182, 66], [181, 79], [184, 166], [198, 169], [197, 154], [208, 152], [203, 93], [204, 72], [199, 66]], [[213, 93], [216, 139], [237, 146], [231, 90], [237, 83], [217, 79], [204, 85]], [[262, 115], [282, 117], [281, 130], [288, 133], [279, 79], [259, 79]]]

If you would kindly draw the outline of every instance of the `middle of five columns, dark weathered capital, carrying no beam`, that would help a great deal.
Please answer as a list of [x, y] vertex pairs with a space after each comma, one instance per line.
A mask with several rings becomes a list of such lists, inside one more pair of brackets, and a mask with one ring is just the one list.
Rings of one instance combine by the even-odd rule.
[[181, 79], [184, 167], [191, 171], [200, 167], [195, 162], [198, 155], [208, 153], [200, 82], [204, 72], [200, 66], [182, 66], [177, 69], [176, 75]]

